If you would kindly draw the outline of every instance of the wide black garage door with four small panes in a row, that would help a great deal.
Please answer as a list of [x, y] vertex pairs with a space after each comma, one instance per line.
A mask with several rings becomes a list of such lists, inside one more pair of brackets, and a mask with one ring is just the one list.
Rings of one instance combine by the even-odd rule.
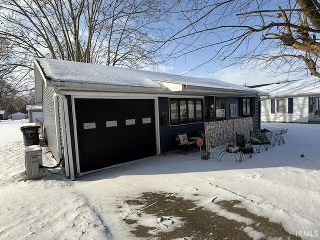
[[153, 99], [75, 99], [80, 172], [156, 155]]

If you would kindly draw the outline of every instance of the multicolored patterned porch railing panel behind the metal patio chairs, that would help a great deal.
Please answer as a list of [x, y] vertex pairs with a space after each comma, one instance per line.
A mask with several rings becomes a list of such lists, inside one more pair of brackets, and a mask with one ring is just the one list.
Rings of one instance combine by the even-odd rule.
[[220, 150], [229, 142], [235, 142], [236, 133], [250, 136], [252, 117], [243, 117], [204, 123], [205, 145], [210, 151]]

